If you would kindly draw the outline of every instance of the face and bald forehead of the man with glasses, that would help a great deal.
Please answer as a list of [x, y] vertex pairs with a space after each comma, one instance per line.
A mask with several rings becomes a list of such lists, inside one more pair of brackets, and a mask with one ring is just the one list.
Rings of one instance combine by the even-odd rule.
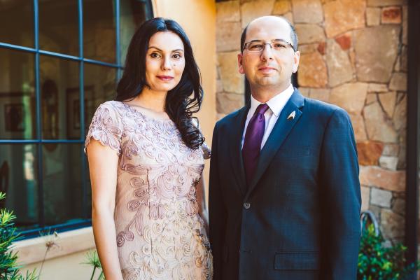
[[[245, 43], [254, 40], [269, 43], [280, 39], [293, 44], [290, 31], [288, 23], [281, 18], [261, 18], [248, 26]], [[244, 49], [238, 55], [239, 73], [245, 74], [251, 87], [285, 89], [292, 73], [297, 71], [299, 57], [300, 53], [290, 46], [274, 50], [266, 44], [260, 52]]]

